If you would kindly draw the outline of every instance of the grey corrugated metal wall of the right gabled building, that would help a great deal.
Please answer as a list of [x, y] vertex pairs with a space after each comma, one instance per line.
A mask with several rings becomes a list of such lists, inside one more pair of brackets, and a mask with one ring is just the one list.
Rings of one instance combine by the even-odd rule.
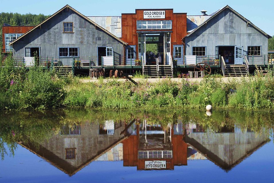
[[247, 55], [247, 46], [262, 46], [261, 54], [267, 54], [268, 38], [252, 27], [246, 27], [246, 22], [230, 9], [225, 9], [216, 17], [185, 37], [186, 55], [192, 55], [193, 46], [206, 46], [207, 55], [216, 54], [216, 46], [237, 45], [243, 46], [244, 55]]

